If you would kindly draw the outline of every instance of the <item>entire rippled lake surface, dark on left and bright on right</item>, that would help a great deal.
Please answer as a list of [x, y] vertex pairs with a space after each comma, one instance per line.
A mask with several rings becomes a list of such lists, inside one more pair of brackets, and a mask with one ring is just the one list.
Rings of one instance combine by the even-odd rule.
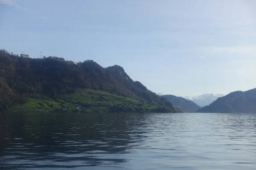
[[256, 114], [0, 114], [1, 170], [255, 170]]

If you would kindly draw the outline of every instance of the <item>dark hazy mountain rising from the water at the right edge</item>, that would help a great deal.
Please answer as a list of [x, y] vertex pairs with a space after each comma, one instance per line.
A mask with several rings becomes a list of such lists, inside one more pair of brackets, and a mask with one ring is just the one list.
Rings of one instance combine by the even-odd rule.
[[220, 97], [209, 106], [199, 109], [204, 113], [256, 113], [256, 88], [235, 91]]

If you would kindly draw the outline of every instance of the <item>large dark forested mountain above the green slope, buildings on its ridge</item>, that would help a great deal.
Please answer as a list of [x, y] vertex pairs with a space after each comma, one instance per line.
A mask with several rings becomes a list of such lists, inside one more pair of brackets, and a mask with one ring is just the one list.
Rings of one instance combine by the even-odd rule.
[[78, 89], [105, 91], [175, 111], [168, 99], [133, 81], [119, 65], [103, 68], [93, 60], [75, 63], [60, 57], [32, 59], [0, 51], [0, 111], [25, 104], [31, 96], [63, 99]]

